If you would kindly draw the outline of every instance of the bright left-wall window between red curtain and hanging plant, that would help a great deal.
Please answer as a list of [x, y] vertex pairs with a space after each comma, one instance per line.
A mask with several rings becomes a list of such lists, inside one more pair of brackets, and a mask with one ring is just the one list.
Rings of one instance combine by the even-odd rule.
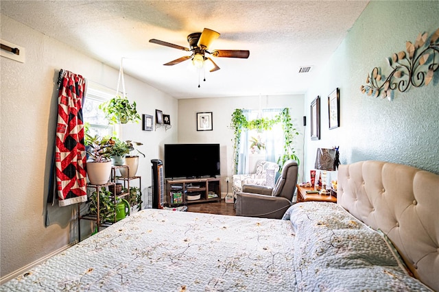
[[99, 110], [99, 104], [115, 96], [115, 90], [99, 85], [95, 82], [87, 81], [86, 96], [82, 106], [82, 116], [84, 123], [88, 123], [88, 134], [112, 136], [113, 127], [108, 125], [104, 112]]

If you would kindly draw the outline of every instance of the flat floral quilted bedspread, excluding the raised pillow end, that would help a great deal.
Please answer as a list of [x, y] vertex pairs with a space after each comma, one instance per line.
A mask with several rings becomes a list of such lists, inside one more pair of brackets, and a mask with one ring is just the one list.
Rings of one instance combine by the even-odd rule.
[[289, 221], [147, 209], [0, 291], [293, 291]]

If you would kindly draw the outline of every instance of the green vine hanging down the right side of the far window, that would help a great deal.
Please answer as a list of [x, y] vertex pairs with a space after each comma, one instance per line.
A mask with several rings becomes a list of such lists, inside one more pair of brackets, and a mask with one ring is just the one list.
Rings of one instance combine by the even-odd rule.
[[298, 136], [296, 128], [293, 127], [291, 117], [289, 117], [289, 109], [284, 108], [281, 112], [281, 123], [283, 130], [283, 155], [278, 158], [277, 164], [279, 165], [279, 171], [282, 171], [282, 167], [287, 160], [296, 160], [297, 164], [300, 164], [300, 160], [296, 155], [296, 151], [293, 147], [294, 136]]

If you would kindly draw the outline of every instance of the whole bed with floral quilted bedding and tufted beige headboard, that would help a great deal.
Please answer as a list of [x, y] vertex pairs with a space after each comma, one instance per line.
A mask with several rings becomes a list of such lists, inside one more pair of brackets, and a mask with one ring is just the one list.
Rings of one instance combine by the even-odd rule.
[[439, 290], [439, 175], [373, 161], [338, 175], [337, 204], [283, 220], [141, 210], [0, 291]]

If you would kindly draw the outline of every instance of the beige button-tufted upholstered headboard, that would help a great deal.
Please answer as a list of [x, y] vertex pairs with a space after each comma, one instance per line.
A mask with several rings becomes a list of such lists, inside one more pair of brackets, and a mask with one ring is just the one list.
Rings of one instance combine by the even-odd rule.
[[439, 175], [407, 165], [340, 165], [337, 204], [381, 229], [414, 276], [439, 291]]

